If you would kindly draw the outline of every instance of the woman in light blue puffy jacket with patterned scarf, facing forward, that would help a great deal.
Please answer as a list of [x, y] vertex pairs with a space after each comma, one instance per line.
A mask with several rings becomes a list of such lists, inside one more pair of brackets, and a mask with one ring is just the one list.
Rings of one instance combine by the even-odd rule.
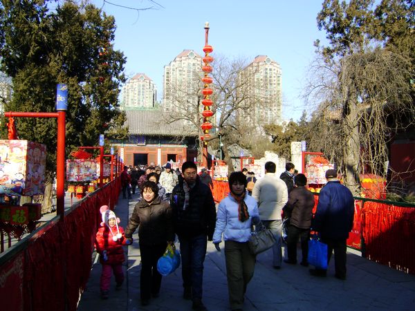
[[226, 275], [230, 308], [242, 310], [246, 286], [254, 274], [255, 255], [249, 251], [248, 240], [251, 222], [259, 223], [257, 201], [246, 191], [246, 177], [242, 172], [229, 176], [230, 193], [221, 200], [216, 214], [213, 243], [218, 252], [219, 243], [225, 241]]

